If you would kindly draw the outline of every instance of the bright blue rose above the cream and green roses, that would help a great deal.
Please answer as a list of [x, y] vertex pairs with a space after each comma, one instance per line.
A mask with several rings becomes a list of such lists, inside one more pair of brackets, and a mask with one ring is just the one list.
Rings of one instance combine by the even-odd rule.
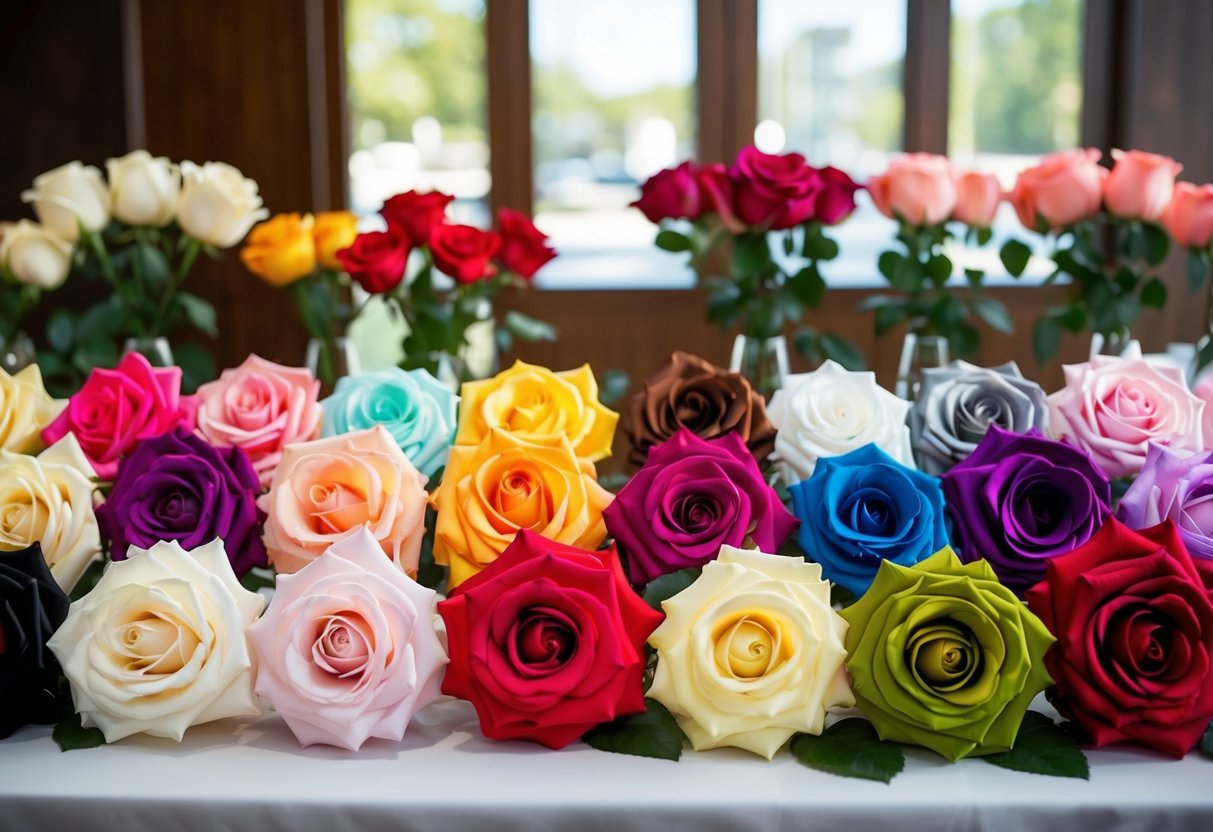
[[801, 548], [856, 597], [882, 560], [910, 566], [947, 545], [939, 480], [876, 445], [820, 460], [790, 491]]

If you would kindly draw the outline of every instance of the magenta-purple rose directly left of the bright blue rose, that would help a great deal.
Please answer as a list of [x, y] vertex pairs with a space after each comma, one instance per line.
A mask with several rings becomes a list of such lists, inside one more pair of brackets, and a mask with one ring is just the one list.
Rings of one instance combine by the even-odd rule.
[[649, 451], [603, 518], [636, 583], [701, 566], [722, 546], [775, 552], [797, 523], [739, 434], [708, 441], [687, 428]]

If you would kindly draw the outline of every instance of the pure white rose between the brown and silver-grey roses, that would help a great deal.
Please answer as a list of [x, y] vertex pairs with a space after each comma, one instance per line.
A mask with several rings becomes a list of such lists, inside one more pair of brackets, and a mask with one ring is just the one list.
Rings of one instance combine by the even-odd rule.
[[819, 458], [869, 443], [912, 468], [910, 406], [877, 384], [875, 372], [852, 372], [835, 361], [788, 376], [767, 405], [779, 429], [775, 454], [785, 480], [791, 485], [808, 479]]

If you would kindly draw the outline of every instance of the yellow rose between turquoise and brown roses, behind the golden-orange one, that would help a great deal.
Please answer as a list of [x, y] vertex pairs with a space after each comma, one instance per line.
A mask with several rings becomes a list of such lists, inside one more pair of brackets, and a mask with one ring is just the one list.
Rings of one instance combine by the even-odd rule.
[[587, 462], [610, 456], [619, 414], [598, 401], [598, 382], [588, 364], [552, 372], [516, 361], [492, 378], [466, 382], [460, 397], [456, 445], [477, 445], [500, 429], [541, 445], [566, 438]]

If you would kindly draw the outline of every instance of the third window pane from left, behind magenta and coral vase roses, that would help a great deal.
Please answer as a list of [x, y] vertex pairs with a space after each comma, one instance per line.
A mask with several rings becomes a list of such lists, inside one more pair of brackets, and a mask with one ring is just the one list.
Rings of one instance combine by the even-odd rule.
[[[864, 182], [901, 149], [905, 102], [905, 0], [758, 4], [758, 126], [768, 153], [803, 153]], [[894, 229], [866, 193], [831, 232], [842, 255], [831, 285], [872, 284]]]

